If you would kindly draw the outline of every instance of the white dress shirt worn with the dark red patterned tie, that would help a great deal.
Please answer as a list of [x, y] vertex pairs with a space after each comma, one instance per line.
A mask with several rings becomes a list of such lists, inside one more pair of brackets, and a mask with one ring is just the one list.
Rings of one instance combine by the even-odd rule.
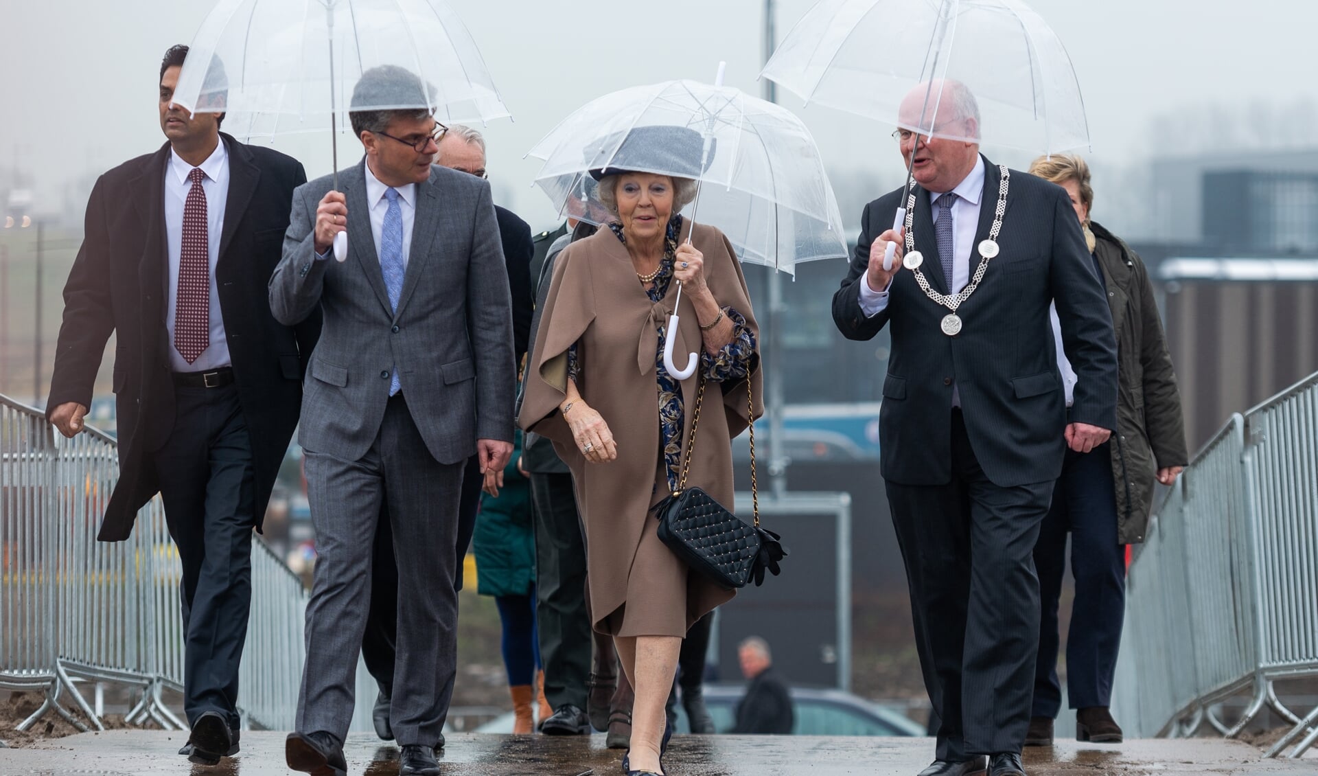
[[169, 360], [174, 372], [210, 372], [229, 366], [229, 343], [224, 336], [224, 315], [220, 312], [220, 291], [215, 285], [215, 263], [220, 258], [220, 232], [224, 229], [224, 206], [229, 198], [229, 154], [220, 140], [215, 152], [200, 165], [202, 191], [206, 194], [206, 237], [211, 263], [211, 344], [196, 361], [188, 364], [174, 348], [174, 318], [178, 312], [178, 265], [183, 254], [183, 204], [192, 182], [187, 175], [192, 166], [178, 158], [170, 149], [165, 165], [165, 233], [169, 244]]

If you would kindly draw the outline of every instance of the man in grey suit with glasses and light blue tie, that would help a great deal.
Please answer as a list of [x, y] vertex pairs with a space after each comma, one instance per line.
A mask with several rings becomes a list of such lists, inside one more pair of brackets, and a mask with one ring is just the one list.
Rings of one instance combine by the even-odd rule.
[[[299, 441], [306, 452], [316, 572], [295, 771], [341, 776], [357, 653], [370, 599], [372, 544], [387, 503], [399, 572], [390, 723], [402, 775], [439, 773], [456, 673], [453, 588], [463, 466], [502, 470], [511, 453], [513, 324], [489, 184], [432, 167], [443, 134], [420, 80], [362, 74], [352, 96], [361, 163], [294, 192], [283, 260], [270, 278], [279, 321], [324, 315]], [[348, 232], [345, 261], [331, 258]]]

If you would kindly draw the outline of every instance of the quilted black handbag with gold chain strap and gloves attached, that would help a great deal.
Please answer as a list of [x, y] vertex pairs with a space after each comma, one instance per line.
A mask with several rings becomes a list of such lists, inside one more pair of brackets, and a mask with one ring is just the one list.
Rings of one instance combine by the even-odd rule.
[[691, 453], [695, 449], [696, 428], [700, 424], [700, 404], [705, 398], [705, 378], [700, 378], [696, 408], [691, 418], [691, 436], [687, 439], [685, 460], [677, 490], [655, 505], [659, 515], [659, 539], [688, 567], [702, 573], [724, 588], [745, 588], [751, 578], [764, 582], [764, 570], [779, 573], [778, 561], [787, 556], [779, 535], [759, 526], [759, 491], [755, 482], [755, 422], [746, 382], [747, 418], [750, 422], [750, 493], [754, 502], [755, 523], [728, 511], [700, 487], [687, 487], [691, 472]]

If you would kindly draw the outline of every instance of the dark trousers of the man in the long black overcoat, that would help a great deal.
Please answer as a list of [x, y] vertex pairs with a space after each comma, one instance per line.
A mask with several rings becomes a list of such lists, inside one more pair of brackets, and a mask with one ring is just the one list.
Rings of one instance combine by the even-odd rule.
[[183, 710], [239, 727], [239, 664], [252, 603], [256, 486], [233, 385], [174, 390], [174, 430], [154, 453], [165, 520], [183, 564]]

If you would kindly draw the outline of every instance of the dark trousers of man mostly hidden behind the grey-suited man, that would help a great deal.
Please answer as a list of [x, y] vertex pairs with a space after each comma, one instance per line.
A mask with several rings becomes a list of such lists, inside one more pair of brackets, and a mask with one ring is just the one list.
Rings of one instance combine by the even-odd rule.
[[[476, 515], [481, 506], [481, 464], [477, 456], [463, 468], [463, 490], [457, 503], [457, 569], [453, 589], [463, 589], [463, 561], [476, 531]], [[398, 563], [394, 560], [394, 534], [389, 526], [389, 505], [380, 511], [380, 528], [372, 549], [370, 614], [366, 632], [361, 636], [361, 660], [366, 664], [380, 692], [393, 693], [394, 656], [398, 642]]]

